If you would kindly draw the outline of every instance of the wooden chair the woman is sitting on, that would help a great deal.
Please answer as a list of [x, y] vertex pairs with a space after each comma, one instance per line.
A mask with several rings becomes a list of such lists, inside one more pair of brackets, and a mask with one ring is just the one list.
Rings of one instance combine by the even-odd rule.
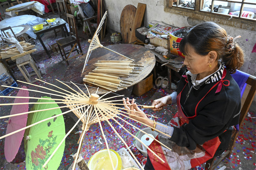
[[[241, 79], [241, 77], [239, 79]], [[239, 119], [239, 129], [241, 129], [241, 126], [244, 122], [245, 116], [247, 115], [247, 112], [252, 104], [253, 98], [256, 93], [256, 77], [250, 75], [245, 83], [247, 84], [247, 85], [245, 84], [246, 87], [242, 87], [242, 89], [245, 88], [245, 90], [241, 97], [242, 103], [241, 103], [241, 112], [240, 112], [240, 119]], [[240, 89], [241, 89], [241, 87], [240, 87]], [[206, 161], [205, 169], [212, 170], [216, 166], [218, 166], [223, 159], [230, 157], [232, 150], [234, 148], [234, 145], [236, 143], [236, 138], [238, 136], [238, 133], [239, 133], [239, 131], [236, 131], [235, 129], [233, 130], [232, 136], [231, 136], [231, 141], [228, 144], [228, 149], [225, 152], [223, 152], [222, 155], [220, 155], [219, 157], [213, 157], [212, 159]], [[215, 158], [216, 158], [216, 160], [215, 160]]]

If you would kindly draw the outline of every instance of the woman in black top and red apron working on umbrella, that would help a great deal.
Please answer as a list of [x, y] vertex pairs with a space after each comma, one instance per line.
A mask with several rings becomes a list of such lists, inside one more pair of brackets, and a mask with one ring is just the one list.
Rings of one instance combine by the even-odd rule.
[[[126, 106], [140, 112], [131, 112], [139, 116], [131, 117], [168, 135], [158, 135], [159, 141], [172, 149], [161, 146], [157, 150], [165, 163], [148, 152], [145, 169], [190, 169], [220, 155], [228, 147], [241, 106], [240, 89], [230, 73], [244, 62], [243, 51], [235, 39], [219, 25], [204, 22], [192, 27], [180, 41], [187, 69], [176, 92], [152, 103], [153, 111], [160, 111], [166, 104], [177, 102], [178, 112], [169, 126], [150, 121], [134, 100], [131, 107]], [[130, 104], [128, 98], [123, 100]], [[149, 146], [154, 151], [156, 147], [159, 148], [156, 141]]]

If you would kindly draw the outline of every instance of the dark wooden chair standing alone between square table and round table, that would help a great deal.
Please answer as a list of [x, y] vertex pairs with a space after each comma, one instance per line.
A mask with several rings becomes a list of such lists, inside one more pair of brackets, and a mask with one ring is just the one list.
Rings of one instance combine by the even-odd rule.
[[[73, 16], [71, 14], [67, 14], [67, 19], [68, 19], [68, 26], [69, 26], [69, 30], [70, 30], [71, 35], [68, 36], [68, 37], [62, 38], [60, 40], [57, 40], [56, 42], [57, 42], [57, 45], [60, 49], [61, 57], [69, 65], [68, 60], [70, 60], [70, 59], [72, 59], [72, 58], [74, 58], [78, 55], [83, 55], [83, 51], [82, 51], [82, 48], [81, 48], [81, 45], [80, 45], [80, 42], [79, 42], [79, 39], [78, 39], [75, 16]], [[76, 47], [76, 45], [78, 45], [79, 49]], [[66, 53], [64, 48], [68, 47], [68, 46], [71, 46], [71, 49]], [[75, 50], [77, 51], [77, 55], [69, 57], [70, 54]], [[62, 54], [62, 52], [63, 52], [63, 54]], [[66, 54], [68, 54], [68, 56]]]

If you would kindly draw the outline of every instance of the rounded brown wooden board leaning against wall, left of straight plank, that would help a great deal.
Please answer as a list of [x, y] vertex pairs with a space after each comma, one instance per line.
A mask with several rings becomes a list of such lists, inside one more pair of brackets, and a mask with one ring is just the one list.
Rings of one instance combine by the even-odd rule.
[[120, 30], [121, 30], [122, 40], [125, 44], [129, 43], [135, 14], [136, 14], [136, 7], [133, 5], [126, 5], [121, 13]]

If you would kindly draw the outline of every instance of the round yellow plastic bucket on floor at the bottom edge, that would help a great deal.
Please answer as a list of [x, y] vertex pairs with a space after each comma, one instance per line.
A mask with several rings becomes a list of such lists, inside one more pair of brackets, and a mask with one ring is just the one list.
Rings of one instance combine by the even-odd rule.
[[[115, 170], [121, 170], [122, 167], [122, 161], [121, 157], [116, 151], [113, 151], [109, 149], [110, 155], [115, 167]], [[110, 168], [111, 167], [111, 168]], [[108, 155], [108, 150], [103, 149], [98, 152], [96, 152], [92, 157], [90, 158], [88, 162], [88, 168], [90, 170], [108, 170], [112, 169], [110, 157]]]

